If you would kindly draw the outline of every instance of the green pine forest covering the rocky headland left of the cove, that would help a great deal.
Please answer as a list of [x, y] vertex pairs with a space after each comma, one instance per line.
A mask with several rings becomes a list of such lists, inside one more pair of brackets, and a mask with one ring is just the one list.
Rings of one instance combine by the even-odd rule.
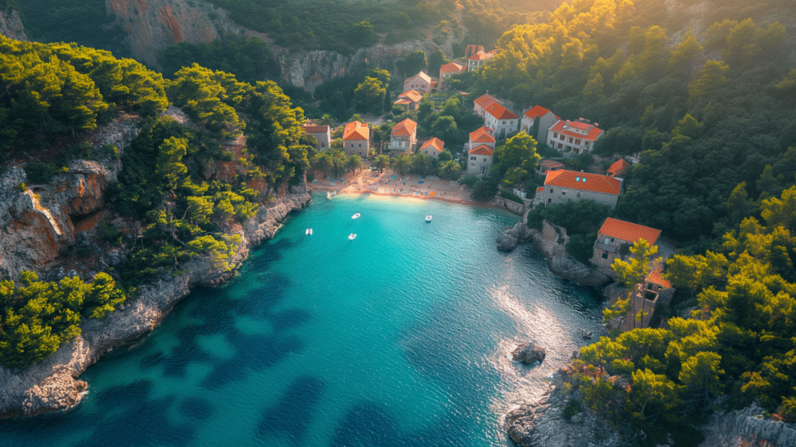
[[[121, 154], [123, 172], [108, 191], [113, 211], [144, 220], [135, 243], [103, 224], [102, 239], [125, 245], [127, 261], [93, 282], [39, 282], [23, 274], [21, 287], [0, 284], [0, 359], [27, 367], [80, 334], [80, 318], [102, 318], [140, 282], [178, 274], [185, 262], [208, 256], [228, 269], [239, 235], [223, 231], [255, 215], [271, 192], [304, 178], [314, 138], [301, 126], [301, 109], [273, 82], [243, 83], [226, 72], [193, 65], [173, 80], [110, 52], [78, 45], [39, 44], [0, 37], [0, 155], [60, 146], [51, 161], [25, 166], [29, 179], [47, 183], [68, 172], [69, 157], [119, 157], [115, 147], [92, 148], [77, 134], [119, 111], [141, 115], [142, 129]], [[162, 115], [169, 103], [201, 127]], [[239, 153], [223, 142], [247, 137]], [[66, 146], [63, 143], [66, 142]], [[254, 186], [254, 188], [252, 188]], [[26, 192], [24, 184], [19, 185]], [[71, 290], [75, 290], [72, 292]]]

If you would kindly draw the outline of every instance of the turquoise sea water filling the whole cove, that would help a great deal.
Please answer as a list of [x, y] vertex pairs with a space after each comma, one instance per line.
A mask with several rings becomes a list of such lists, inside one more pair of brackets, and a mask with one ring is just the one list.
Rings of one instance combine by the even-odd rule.
[[[509, 445], [501, 414], [544, 391], [603, 307], [532, 248], [496, 251], [516, 222], [494, 208], [315, 195], [234, 280], [193, 290], [88, 368], [78, 406], [0, 421], [0, 445]], [[547, 360], [512, 362], [530, 340]]]

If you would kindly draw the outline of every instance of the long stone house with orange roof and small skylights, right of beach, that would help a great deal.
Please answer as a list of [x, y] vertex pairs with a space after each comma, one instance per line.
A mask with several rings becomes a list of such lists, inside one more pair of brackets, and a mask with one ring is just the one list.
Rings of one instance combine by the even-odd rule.
[[622, 180], [593, 173], [579, 173], [567, 169], [548, 170], [544, 190], [535, 198], [536, 204], [564, 204], [568, 200], [594, 200], [595, 203], [616, 208], [622, 194]]

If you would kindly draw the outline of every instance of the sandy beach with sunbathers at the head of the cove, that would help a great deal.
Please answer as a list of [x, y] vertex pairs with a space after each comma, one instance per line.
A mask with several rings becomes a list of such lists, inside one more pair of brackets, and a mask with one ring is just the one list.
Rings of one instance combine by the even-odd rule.
[[457, 181], [440, 180], [435, 176], [421, 177], [417, 174], [400, 177], [388, 170], [378, 173], [363, 169], [356, 174], [347, 173], [345, 177], [335, 181], [330, 181], [329, 177], [316, 179], [313, 183], [308, 184], [307, 188], [310, 191], [336, 191], [338, 194], [373, 194], [374, 196], [447, 200], [458, 204], [490, 206], [490, 204], [470, 200], [467, 187], [459, 185]]

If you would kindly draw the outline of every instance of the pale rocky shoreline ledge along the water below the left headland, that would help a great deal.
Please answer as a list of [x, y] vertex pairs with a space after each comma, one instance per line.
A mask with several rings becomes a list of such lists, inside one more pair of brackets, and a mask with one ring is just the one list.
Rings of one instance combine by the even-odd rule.
[[232, 278], [247, 257], [248, 247], [274, 237], [279, 221], [310, 201], [310, 194], [304, 187], [300, 188], [299, 192], [260, 208], [254, 218], [236, 231], [243, 243], [230, 262], [232, 270], [214, 269], [209, 258], [194, 258], [185, 265], [189, 273], [176, 277], [165, 274], [149, 285], [140, 286], [133, 300], [104, 320], [84, 320], [81, 335], [61, 346], [53, 356], [23, 371], [0, 367], [0, 418], [33, 416], [80, 402], [88, 384], [77, 377], [86, 368], [109, 349], [152, 330], [193, 287], [216, 286]]

